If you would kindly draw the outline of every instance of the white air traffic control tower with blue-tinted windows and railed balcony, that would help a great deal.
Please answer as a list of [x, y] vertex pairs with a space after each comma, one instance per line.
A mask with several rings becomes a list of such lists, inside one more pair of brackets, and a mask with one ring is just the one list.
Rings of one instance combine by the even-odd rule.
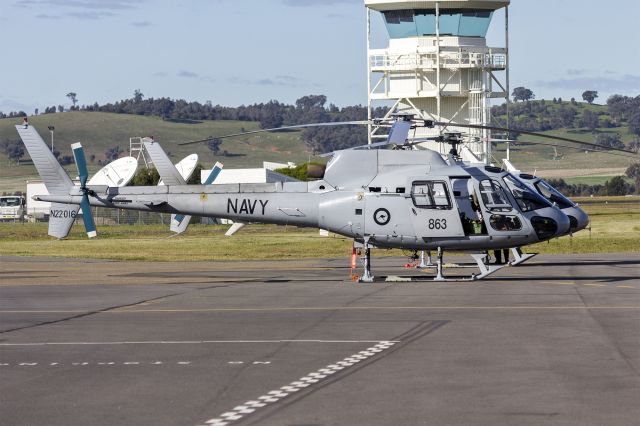
[[[426, 120], [484, 124], [491, 122], [490, 100], [509, 100], [510, 0], [365, 0], [367, 7], [368, 106], [415, 114]], [[488, 47], [494, 12], [505, 9], [505, 47]], [[389, 46], [371, 48], [372, 13], [381, 13]], [[499, 74], [496, 74], [499, 73]], [[508, 123], [501, 123], [508, 125]], [[491, 134], [454, 126], [418, 128], [415, 138], [461, 132], [468, 161], [491, 162]], [[376, 126], [369, 141], [385, 137]], [[413, 136], [413, 134], [412, 134]], [[449, 146], [427, 142], [446, 154]], [[474, 158], [475, 157], [475, 158]]]

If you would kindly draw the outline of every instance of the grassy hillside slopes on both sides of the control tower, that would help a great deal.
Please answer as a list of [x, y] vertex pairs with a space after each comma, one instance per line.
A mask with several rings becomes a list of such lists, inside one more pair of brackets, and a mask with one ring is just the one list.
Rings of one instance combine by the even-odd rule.
[[[568, 102], [560, 104], [551, 101], [547, 101], [545, 105], [552, 117], [556, 111], [570, 106]], [[578, 113], [576, 123], [580, 122], [585, 111], [598, 114], [603, 125], [610, 124], [612, 121], [606, 106], [577, 103], [573, 107]], [[521, 114], [514, 119], [540, 121], [548, 118], [549, 114], [546, 117], [541, 117], [532, 113], [528, 116]], [[45, 114], [31, 117], [29, 120], [47, 142], [50, 140], [47, 126], [55, 126], [54, 145], [61, 152], [61, 156], [71, 155], [70, 144], [82, 142], [87, 152], [87, 158], [95, 155], [95, 159], [89, 164], [92, 173], [101, 167], [107, 149], [119, 146], [124, 151], [123, 155], [126, 155], [129, 149], [129, 138], [135, 136], [153, 135], [155, 140], [162, 144], [176, 162], [195, 152], [200, 156], [200, 162], [205, 167], [210, 167], [215, 161], [223, 162], [228, 168], [261, 167], [263, 161], [304, 163], [309, 160], [311, 155], [309, 147], [300, 140], [298, 132], [264, 133], [225, 139], [217, 156], [205, 144], [178, 145], [180, 142], [259, 128], [257, 122], [249, 121], [176, 122], [150, 116], [86, 111]], [[498, 120], [506, 123], [504, 116], [498, 117]], [[0, 139], [19, 139], [14, 125], [20, 122], [19, 118], [0, 119]], [[545, 133], [592, 143], [596, 142], [598, 134], [605, 133], [619, 134], [626, 144], [634, 139], [634, 136], [629, 133], [628, 127], [602, 127], [594, 132], [586, 128], [572, 128]], [[546, 139], [525, 136], [522, 136], [520, 140], [549, 142]], [[226, 151], [226, 155], [223, 155], [224, 151]], [[506, 157], [506, 146], [499, 144], [494, 148], [493, 157], [496, 163], [500, 163]], [[25, 154], [24, 158], [26, 161], [17, 166], [11, 164], [6, 157], [0, 154], [0, 194], [24, 191], [25, 181], [38, 179], [28, 155]], [[311, 159], [313, 160], [313, 157]], [[554, 150], [549, 146], [518, 143], [511, 146], [511, 159], [514, 165], [523, 171], [536, 172], [543, 177], [567, 178], [571, 179], [572, 183], [587, 183], [593, 182], [594, 179], [598, 182], [604, 182], [611, 176], [623, 175], [630, 164], [640, 161], [640, 156], [629, 158], [599, 152], [585, 153], [568, 148]], [[67, 168], [71, 175], [77, 173], [73, 165], [67, 166]]]

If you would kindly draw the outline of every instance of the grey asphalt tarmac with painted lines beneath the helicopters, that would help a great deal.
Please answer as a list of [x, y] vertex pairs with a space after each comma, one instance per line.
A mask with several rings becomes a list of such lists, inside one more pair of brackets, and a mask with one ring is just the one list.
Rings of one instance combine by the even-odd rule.
[[639, 254], [348, 263], [0, 257], [0, 424], [640, 424]]

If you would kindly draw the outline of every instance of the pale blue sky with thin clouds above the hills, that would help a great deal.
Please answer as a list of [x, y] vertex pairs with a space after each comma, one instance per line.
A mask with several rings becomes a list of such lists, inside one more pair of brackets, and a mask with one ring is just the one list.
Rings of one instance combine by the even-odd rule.
[[[615, 7], [611, 7], [615, 5]], [[0, 0], [0, 111], [146, 97], [365, 104], [363, 0]], [[512, 0], [512, 87], [640, 94], [640, 2]], [[504, 43], [494, 16], [489, 45]], [[375, 47], [387, 43], [373, 19]]]

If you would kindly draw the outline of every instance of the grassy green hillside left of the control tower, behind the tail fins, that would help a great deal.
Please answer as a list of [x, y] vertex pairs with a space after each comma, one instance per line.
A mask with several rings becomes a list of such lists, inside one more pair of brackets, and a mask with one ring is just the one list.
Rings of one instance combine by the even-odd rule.
[[[165, 121], [158, 117], [147, 117], [128, 114], [110, 114], [101, 112], [73, 111], [58, 114], [46, 114], [30, 117], [29, 122], [42, 135], [47, 143], [50, 134], [47, 126], [55, 126], [54, 147], [61, 152], [61, 156], [71, 155], [70, 145], [82, 142], [87, 158], [95, 155], [93, 163], [89, 164], [91, 172], [100, 169], [99, 161], [105, 159], [105, 151], [119, 146], [129, 150], [129, 138], [153, 135], [155, 140], [169, 153], [175, 162], [181, 158], [197, 153], [200, 162], [210, 167], [215, 161], [225, 164], [225, 167], [262, 167], [263, 161], [303, 163], [309, 160], [311, 152], [307, 145], [300, 141], [299, 132], [264, 133], [246, 137], [225, 139], [220, 146], [220, 154], [215, 156], [206, 144], [180, 146], [178, 143], [190, 140], [237, 133], [244, 130], [259, 128], [256, 122], [244, 121], [194, 121], [174, 122]], [[0, 120], [0, 139], [16, 139], [19, 136], [14, 128], [21, 119], [5, 118]], [[227, 151], [227, 155], [223, 152]], [[24, 191], [25, 181], [38, 179], [35, 168], [30, 164], [28, 154], [25, 154], [20, 166], [10, 164], [7, 158], [0, 154], [0, 193]], [[77, 173], [72, 165], [67, 167]]]

